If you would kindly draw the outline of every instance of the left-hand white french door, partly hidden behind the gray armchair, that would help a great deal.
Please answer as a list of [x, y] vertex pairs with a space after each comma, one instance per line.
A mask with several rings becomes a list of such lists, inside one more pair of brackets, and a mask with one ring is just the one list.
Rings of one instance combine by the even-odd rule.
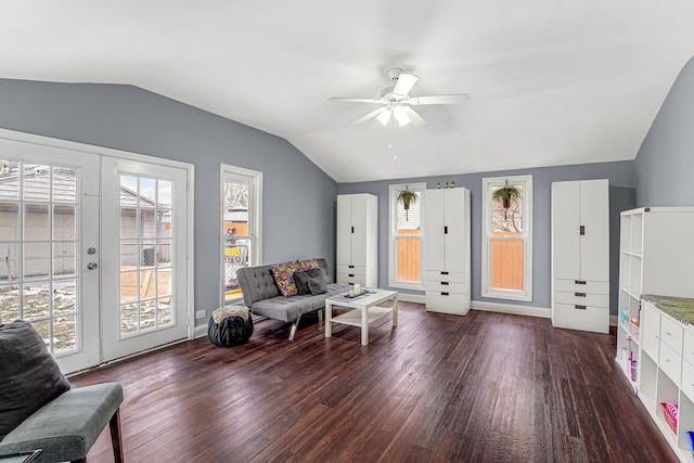
[[100, 362], [98, 259], [99, 157], [0, 139], [0, 317], [31, 322], [64, 372]]

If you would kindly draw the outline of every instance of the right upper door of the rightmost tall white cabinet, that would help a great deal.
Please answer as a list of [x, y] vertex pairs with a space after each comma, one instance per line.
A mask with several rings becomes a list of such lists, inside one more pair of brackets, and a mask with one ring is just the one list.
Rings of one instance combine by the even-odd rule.
[[580, 182], [581, 280], [609, 281], [609, 191], [607, 180]]

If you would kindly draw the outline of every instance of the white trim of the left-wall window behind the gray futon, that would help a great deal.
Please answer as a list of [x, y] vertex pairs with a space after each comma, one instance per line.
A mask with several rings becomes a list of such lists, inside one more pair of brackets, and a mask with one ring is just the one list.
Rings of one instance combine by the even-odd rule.
[[[229, 164], [220, 164], [219, 168], [219, 254], [224, 255], [224, 235], [221, 233], [224, 221], [224, 179], [233, 177], [241, 177], [244, 179], [250, 178], [250, 185], [253, 188], [253, 201], [248, 208], [248, 211], [253, 214], [253, 220], [249, 222], [253, 224], [252, 230], [248, 230], [248, 235], [253, 236], [252, 254], [253, 260], [249, 265], [255, 266], [262, 262], [262, 172], [259, 170], [246, 169], [243, 167], [231, 166]], [[243, 297], [232, 300], [226, 300], [224, 287], [227, 282], [224, 281], [224, 259], [219, 259], [219, 299], [220, 306], [230, 305], [243, 300]]]

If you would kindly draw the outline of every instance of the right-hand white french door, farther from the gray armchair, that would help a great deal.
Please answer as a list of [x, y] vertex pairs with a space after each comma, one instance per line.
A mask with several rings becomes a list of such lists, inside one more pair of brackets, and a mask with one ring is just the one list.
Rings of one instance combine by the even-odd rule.
[[102, 356], [188, 337], [187, 170], [104, 157]]

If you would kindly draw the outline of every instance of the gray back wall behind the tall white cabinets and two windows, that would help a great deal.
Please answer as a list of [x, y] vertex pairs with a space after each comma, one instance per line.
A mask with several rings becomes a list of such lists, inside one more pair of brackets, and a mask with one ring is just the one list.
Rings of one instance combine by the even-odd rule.
[[[481, 181], [484, 177], [532, 175], [532, 300], [529, 303], [499, 300], [481, 297]], [[547, 167], [527, 170], [452, 175], [395, 179], [375, 182], [340, 183], [338, 194], [372, 193], [378, 196], [378, 283], [388, 282], [388, 185], [394, 183], [426, 182], [428, 189], [438, 182], [454, 181], [471, 192], [472, 228], [472, 299], [549, 308], [551, 306], [551, 211], [550, 189], [552, 182], [564, 180], [609, 179], [611, 210], [611, 313], [617, 314], [619, 267], [619, 213], [634, 207], [635, 176], [633, 162], [587, 164], [578, 166]]]

